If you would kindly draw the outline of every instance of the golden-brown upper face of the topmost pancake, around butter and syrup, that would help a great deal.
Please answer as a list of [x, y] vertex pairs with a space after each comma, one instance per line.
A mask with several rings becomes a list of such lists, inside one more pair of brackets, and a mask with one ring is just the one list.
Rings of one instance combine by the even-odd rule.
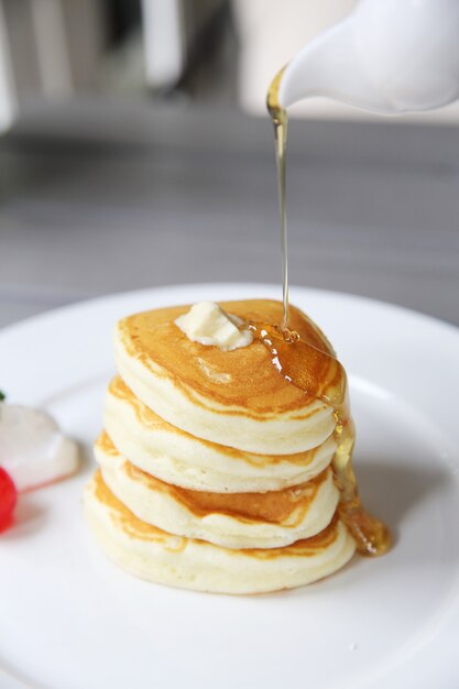
[[[249, 299], [222, 302], [220, 306], [247, 321], [269, 325], [282, 321], [281, 302]], [[233, 351], [189, 340], [174, 322], [189, 308], [189, 305], [160, 308], [121, 320], [119, 331], [128, 352], [154, 369], [156, 376], [172, 380], [195, 403], [205, 405], [203, 397], [209, 400], [212, 412], [218, 413], [211, 406], [211, 402], [216, 402], [226, 407], [225, 414], [231, 413], [228, 407], [234, 407], [236, 414], [242, 408], [273, 418], [314, 401], [285, 381], [272, 364], [266, 347], [256, 339]], [[326, 337], [294, 306], [289, 327], [313, 347], [334, 356]], [[298, 418], [305, 418], [305, 413], [299, 413]]]

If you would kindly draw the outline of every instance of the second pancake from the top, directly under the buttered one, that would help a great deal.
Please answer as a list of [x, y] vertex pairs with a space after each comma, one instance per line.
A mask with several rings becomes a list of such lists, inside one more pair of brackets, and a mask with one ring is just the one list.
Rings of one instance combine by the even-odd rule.
[[105, 402], [105, 428], [121, 455], [147, 473], [198, 491], [278, 491], [314, 479], [334, 457], [336, 441], [295, 455], [253, 455], [174, 427], [116, 378]]

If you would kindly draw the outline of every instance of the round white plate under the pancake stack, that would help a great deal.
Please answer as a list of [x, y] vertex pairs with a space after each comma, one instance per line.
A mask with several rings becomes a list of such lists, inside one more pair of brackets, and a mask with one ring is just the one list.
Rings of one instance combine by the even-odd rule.
[[[0, 386], [44, 405], [87, 449], [81, 473], [21, 497], [0, 537], [0, 687], [452, 689], [459, 685], [459, 331], [393, 306], [293, 288], [350, 374], [356, 466], [395, 547], [327, 580], [231, 598], [117, 569], [80, 510], [118, 317], [147, 307], [278, 297], [181, 286], [61, 309], [0, 335]], [[13, 679], [15, 678], [15, 679]]]

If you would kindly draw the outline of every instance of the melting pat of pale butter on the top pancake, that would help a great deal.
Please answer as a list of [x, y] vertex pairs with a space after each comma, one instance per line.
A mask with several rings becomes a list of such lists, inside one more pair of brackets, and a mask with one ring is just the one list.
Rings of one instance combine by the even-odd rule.
[[187, 314], [179, 316], [175, 325], [193, 342], [212, 344], [223, 351], [247, 347], [253, 340], [250, 330], [240, 330], [243, 320], [227, 314], [214, 302], [194, 304]]

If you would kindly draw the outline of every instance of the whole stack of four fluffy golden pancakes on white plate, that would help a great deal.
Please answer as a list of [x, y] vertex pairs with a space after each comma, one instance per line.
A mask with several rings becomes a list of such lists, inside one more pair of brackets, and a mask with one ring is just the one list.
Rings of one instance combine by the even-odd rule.
[[[222, 304], [280, 322], [277, 302]], [[152, 581], [227, 593], [293, 588], [342, 567], [356, 543], [337, 513], [335, 416], [272, 364], [265, 346], [222, 351], [175, 325], [189, 306], [116, 331], [99, 469], [86, 513], [103, 550]], [[332, 352], [292, 308], [291, 327]]]

